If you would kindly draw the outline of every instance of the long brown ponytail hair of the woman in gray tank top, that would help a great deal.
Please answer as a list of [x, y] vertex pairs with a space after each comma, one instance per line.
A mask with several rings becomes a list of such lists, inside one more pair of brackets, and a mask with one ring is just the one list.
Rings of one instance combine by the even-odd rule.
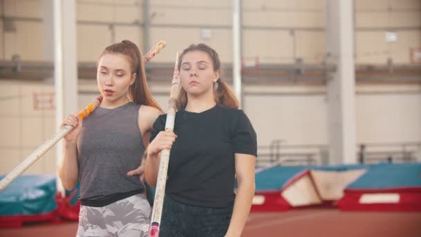
[[120, 43], [107, 46], [107, 48], [102, 51], [100, 58], [107, 53], [120, 53], [126, 55], [130, 59], [132, 73], [136, 73], [134, 83], [129, 87], [130, 100], [137, 105], [147, 105], [162, 111], [158, 103], [152, 98], [149, 87], [147, 87], [145, 64], [143, 63], [143, 55], [141, 51], [139, 51], [138, 46], [129, 40], [123, 40]]

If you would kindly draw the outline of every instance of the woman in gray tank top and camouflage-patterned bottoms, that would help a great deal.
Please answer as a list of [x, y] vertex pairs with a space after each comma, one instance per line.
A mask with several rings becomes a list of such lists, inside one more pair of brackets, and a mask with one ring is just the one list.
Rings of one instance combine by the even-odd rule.
[[70, 190], [80, 181], [77, 236], [147, 236], [150, 204], [141, 159], [161, 114], [147, 88], [136, 44], [111, 44], [98, 60], [102, 103], [82, 123], [69, 114], [59, 177]]

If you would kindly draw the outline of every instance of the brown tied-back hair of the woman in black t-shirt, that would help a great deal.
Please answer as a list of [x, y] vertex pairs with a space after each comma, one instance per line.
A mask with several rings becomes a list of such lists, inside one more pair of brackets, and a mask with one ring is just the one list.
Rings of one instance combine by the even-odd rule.
[[[202, 51], [204, 53], [207, 53], [209, 57], [211, 57], [213, 62], [213, 71], [220, 71], [221, 72], [221, 61], [220, 56], [218, 53], [212, 49], [210, 46], [206, 44], [191, 44], [188, 46], [188, 48], [183, 50], [183, 53], [181, 53], [179, 58], [179, 64], [178, 69], [180, 71], [181, 64], [183, 63], [183, 56], [186, 55], [186, 53], [191, 51]], [[214, 83], [215, 84], [215, 83]], [[213, 96], [215, 98], [215, 102], [217, 104], [220, 104], [224, 107], [234, 108], [238, 109], [238, 100], [235, 98], [233, 91], [227, 85], [224, 81], [221, 80], [221, 78], [218, 78], [217, 80], [217, 87], [213, 90]], [[179, 97], [177, 98], [177, 109], [184, 109], [187, 105], [187, 93], [186, 91], [181, 87]]]

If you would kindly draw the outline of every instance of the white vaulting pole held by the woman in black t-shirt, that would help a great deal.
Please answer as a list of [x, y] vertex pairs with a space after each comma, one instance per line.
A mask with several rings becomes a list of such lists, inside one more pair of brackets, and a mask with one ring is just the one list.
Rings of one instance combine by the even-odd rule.
[[[179, 71], [177, 69], [180, 55], [181, 53], [178, 52], [174, 65], [174, 73], [172, 75], [170, 100], [168, 100], [167, 120], [165, 121], [165, 131], [174, 130], [175, 113], [177, 112], [176, 102], [180, 91]], [[162, 150], [161, 161], [159, 163], [158, 170], [158, 180], [156, 182], [155, 189], [154, 210], [152, 211], [152, 218], [150, 222], [150, 237], [159, 236], [159, 225], [161, 225], [163, 198], [165, 196], [165, 184], [167, 182], [168, 161], [170, 161], [170, 150]]]

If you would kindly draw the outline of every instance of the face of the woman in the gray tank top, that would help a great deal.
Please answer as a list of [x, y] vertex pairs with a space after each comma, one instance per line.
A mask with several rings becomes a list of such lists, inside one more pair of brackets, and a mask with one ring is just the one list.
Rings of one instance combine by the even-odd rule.
[[136, 78], [130, 62], [126, 55], [118, 53], [106, 53], [100, 58], [96, 80], [104, 102], [112, 105], [127, 102], [129, 87]]

